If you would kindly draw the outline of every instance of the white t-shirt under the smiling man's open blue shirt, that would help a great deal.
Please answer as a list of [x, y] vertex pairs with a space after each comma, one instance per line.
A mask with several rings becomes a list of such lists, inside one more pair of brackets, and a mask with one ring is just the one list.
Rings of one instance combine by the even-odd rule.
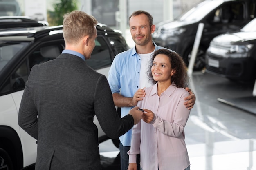
[[152, 82], [150, 82], [148, 79], [147, 72], [148, 72], [148, 68], [150, 65], [151, 56], [154, 52], [155, 52], [155, 50], [148, 54], [138, 54], [141, 57], [141, 66], [140, 66], [140, 74], [139, 74], [139, 88], [152, 86]]

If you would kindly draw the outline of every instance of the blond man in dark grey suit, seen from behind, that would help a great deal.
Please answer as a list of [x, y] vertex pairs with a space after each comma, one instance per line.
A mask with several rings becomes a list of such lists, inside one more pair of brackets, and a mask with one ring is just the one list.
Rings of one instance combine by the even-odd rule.
[[66, 49], [31, 69], [18, 123], [37, 139], [36, 170], [100, 170], [94, 115], [111, 138], [126, 133], [142, 117], [135, 107], [120, 119], [106, 77], [85, 63], [95, 46], [96, 24], [81, 11], [64, 15]]

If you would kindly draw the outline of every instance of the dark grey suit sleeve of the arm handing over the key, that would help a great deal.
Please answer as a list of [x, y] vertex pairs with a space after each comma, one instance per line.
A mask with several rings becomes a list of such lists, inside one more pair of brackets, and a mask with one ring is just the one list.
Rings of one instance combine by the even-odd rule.
[[95, 88], [94, 110], [102, 130], [110, 138], [124, 135], [134, 124], [132, 115], [120, 118], [115, 108], [108, 81], [104, 75], [98, 79]]

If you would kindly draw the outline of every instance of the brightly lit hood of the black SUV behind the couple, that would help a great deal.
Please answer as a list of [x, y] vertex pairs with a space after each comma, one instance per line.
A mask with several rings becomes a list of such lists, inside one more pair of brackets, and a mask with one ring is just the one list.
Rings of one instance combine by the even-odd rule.
[[179, 28], [181, 26], [185, 26], [193, 23], [195, 22], [193, 21], [187, 22], [187, 21], [180, 21], [180, 20], [175, 20], [171, 22], [160, 22], [159, 24], [157, 24], [157, 29], [164, 29], [164, 30], [175, 29], [175, 28]]

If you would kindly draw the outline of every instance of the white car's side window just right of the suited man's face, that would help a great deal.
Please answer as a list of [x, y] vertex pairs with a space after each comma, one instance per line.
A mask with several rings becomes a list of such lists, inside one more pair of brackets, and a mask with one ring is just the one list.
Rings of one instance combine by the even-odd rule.
[[110, 66], [112, 63], [108, 45], [100, 36], [95, 40], [95, 47], [92, 51], [91, 58], [85, 62], [94, 70]]

